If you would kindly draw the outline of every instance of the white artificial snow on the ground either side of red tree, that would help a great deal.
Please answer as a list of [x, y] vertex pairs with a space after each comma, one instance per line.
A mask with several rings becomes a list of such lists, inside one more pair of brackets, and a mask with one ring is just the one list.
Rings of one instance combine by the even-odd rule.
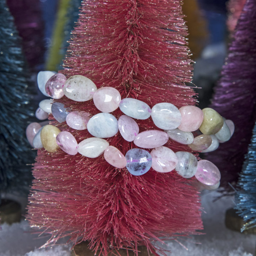
[[[241, 234], [225, 228], [225, 211], [231, 208], [232, 197], [218, 197], [217, 192], [204, 192], [202, 196], [205, 235], [178, 238], [161, 247], [172, 256], [253, 256], [256, 235]], [[12, 225], [2, 224], [0, 230], [0, 256], [71, 256], [71, 245], [41, 247], [49, 236], [31, 233], [22, 220]], [[63, 243], [63, 241], [61, 241]]]

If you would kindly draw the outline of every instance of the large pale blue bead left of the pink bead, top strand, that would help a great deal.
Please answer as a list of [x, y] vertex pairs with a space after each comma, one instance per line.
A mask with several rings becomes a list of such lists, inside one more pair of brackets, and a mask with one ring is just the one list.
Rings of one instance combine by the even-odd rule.
[[181, 123], [181, 113], [173, 104], [162, 102], [152, 108], [151, 117], [160, 129], [176, 129]]

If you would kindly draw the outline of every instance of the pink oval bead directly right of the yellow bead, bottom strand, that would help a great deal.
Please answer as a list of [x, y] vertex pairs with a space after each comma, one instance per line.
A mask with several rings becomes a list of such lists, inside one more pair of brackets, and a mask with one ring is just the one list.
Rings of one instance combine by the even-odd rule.
[[58, 146], [67, 154], [75, 155], [78, 153], [78, 150], [76, 149], [78, 143], [70, 132], [60, 132], [56, 137], [56, 142]]

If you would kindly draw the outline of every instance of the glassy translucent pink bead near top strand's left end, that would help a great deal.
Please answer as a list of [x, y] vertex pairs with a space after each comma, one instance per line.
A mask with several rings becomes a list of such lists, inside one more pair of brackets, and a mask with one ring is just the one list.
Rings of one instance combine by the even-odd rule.
[[55, 99], [59, 99], [64, 96], [63, 86], [65, 84], [66, 77], [57, 73], [53, 75], [47, 82], [45, 86], [46, 93]]

